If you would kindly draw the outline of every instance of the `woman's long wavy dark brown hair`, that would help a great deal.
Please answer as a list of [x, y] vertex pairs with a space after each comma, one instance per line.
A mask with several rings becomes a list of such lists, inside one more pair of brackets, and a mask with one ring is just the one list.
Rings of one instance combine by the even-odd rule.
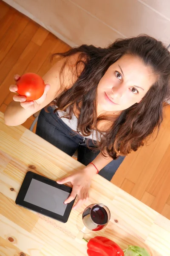
[[[144, 140], [160, 128], [163, 119], [163, 105], [170, 95], [170, 52], [162, 44], [148, 35], [139, 35], [133, 38], [117, 39], [106, 48], [83, 44], [64, 53], [55, 53], [54, 56], [71, 56], [80, 52], [76, 63], [84, 64], [74, 84], [65, 89], [51, 102], [57, 110], [66, 111], [67, 118], [71, 119], [74, 109], [79, 111], [77, 132], [84, 136], [96, 132], [102, 134], [96, 148], [107, 151], [110, 157], [116, 159], [119, 155], [127, 155], [144, 145]], [[141, 102], [125, 109], [117, 117], [96, 115], [96, 89], [108, 67], [122, 55], [131, 54], [140, 57], [144, 64], [149, 65], [158, 77], [155, 84], [145, 94]], [[62, 74], [64, 66], [62, 67]], [[61, 76], [60, 76], [61, 79]], [[101, 120], [113, 121], [105, 132], [99, 131], [97, 124]]]

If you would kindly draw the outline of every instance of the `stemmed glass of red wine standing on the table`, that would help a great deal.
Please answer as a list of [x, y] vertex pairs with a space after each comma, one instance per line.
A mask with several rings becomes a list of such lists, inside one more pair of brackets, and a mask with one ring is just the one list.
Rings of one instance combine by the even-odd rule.
[[110, 218], [111, 212], [107, 206], [104, 204], [91, 204], [77, 216], [77, 228], [85, 234], [99, 231], [107, 226]]

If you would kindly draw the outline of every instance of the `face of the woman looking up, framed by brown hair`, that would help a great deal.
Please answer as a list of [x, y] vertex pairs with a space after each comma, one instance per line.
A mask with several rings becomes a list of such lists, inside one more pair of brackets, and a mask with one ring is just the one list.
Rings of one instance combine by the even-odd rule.
[[155, 81], [151, 68], [140, 58], [123, 55], [99, 81], [98, 112], [122, 111], [139, 103]]

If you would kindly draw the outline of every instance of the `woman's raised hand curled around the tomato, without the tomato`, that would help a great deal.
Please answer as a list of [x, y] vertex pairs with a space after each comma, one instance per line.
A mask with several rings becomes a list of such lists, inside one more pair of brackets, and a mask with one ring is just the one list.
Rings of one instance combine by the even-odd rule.
[[[14, 76], [15, 81], [17, 81], [19, 78], [20, 78], [19, 75]], [[47, 92], [49, 91], [49, 89], [50, 89], [50, 84], [45, 84], [44, 93], [40, 97], [40, 99], [37, 99], [37, 100], [27, 101], [26, 96], [20, 96], [19, 94], [14, 95], [13, 100], [15, 102], [20, 102], [21, 107], [23, 107], [25, 109], [36, 110], [38, 108], [38, 106], [40, 106], [40, 104], [45, 101], [45, 98], [47, 96]], [[16, 84], [12, 84], [12, 85], [10, 85], [9, 90], [13, 93], [17, 93], [18, 87]]]

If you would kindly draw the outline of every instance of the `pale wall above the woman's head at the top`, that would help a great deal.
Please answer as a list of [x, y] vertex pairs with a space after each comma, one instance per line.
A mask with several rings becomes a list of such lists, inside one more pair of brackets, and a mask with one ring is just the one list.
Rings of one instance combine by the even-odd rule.
[[73, 46], [147, 33], [170, 44], [170, 0], [5, 0]]

